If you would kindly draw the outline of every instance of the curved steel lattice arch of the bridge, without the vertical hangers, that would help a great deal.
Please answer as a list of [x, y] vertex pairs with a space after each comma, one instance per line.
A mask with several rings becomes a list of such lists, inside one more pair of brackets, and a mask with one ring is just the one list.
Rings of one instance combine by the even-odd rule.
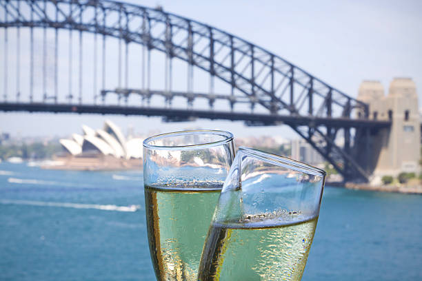
[[[251, 109], [259, 105], [265, 111], [263, 114], [234, 112], [233, 107], [230, 112], [201, 112], [192, 108], [188, 113], [173, 112], [174, 116], [170, 116], [171, 111], [157, 114], [167, 114], [168, 118], [176, 119], [183, 114], [187, 117], [228, 118], [244, 120], [250, 125], [285, 123], [332, 163], [344, 178], [368, 178], [365, 167], [352, 156], [353, 141], [350, 140], [363, 136], [362, 130], [374, 129], [380, 125], [368, 120], [368, 105], [258, 45], [177, 14], [117, 1], [0, 0], [0, 3], [0, 12], [4, 14], [0, 27], [26, 27], [31, 30], [53, 28], [56, 30], [56, 38], [57, 30], [79, 30], [102, 34], [103, 38], [114, 37], [125, 44], [141, 44], [147, 52], [163, 52], [169, 61], [170, 72], [172, 59], [179, 59], [188, 64], [188, 79], [192, 75], [192, 67], [198, 67], [210, 74], [211, 81], [214, 78], [221, 79], [231, 88], [227, 95], [213, 92], [198, 94], [193, 92], [188, 83], [186, 92], [173, 92], [171, 79], [168, 80], [171, 74], [166, 74], [165, 91], [123, 87], [102, 89], [102, 96], [111, 92], [123, 97], [130, 94], [139, 94], [146, 98], [154, 94], [167, 95], [170, 98], [179, 95], [185, 97], [188, 104], [194, 98], [208, 98], [210, 107], [216, 98], [223, 98], [231, 105], [243, 101]], [[82, 101], [81, 96], [79, 101]], [[72, 107], [75, 112], [78, 108]], [[97, 110], [101, 112], [101, 108]], [[124, 112], [123, 110], [117, 109], [116, 112]], [[136, 108], [132, 110], [136, 114]], [[92, 111], [95, 112], [95, 109]], [[138, 112], [154, 114], [151, 110], [149, 113], [148, 110]], [[354, 112], [364, 114], [361, 119], [356, 120]], [[352, 129], [356, 134], [350, 133]], [[341, 130], [345, 138], [343, 147], [334, 143], [336, 134]]]

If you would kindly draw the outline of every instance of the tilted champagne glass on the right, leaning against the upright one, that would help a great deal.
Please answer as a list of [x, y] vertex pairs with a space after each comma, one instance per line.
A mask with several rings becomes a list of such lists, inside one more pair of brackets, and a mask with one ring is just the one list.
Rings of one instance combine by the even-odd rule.
[[325, 171], [240, 147], [205, 240], [199, 279], [301, 280]]

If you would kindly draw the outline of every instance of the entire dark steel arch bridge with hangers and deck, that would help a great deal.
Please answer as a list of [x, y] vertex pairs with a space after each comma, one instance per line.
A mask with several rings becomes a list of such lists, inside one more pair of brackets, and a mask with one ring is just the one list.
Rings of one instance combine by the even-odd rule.
[[[98, 0], [0, 0], [0, 27], [4, 30], [5, 57], [4, 92], [0, 103], [3, 111], [137, 114], [163, 116], [166, 121], [209, 118], [245, 121], [248, 125], [284, 123], [308, 141], [345, 180], [368, 180], [370, 135], [390, 126], [390, 122], [370, 119], [365, 103], [280, 56], [218, 28], [164, 12], [162, 8]], [[30, 34], [30, 85], [25, 94], [20, 85], [21, 29], [29, 30]], [[15, 61], [8, 55], [11, 30], [16, 33]], [[43, 31], [42, 98], [38, 99], [34, 94], [34, 75], [37, 76], [34, 74], [34, 30]], [[52, 55], [47, 55], [46, 30], [54, 32]], [[58, 66], [59, 36], [63, 30], [68, 30], [69, 65], [74, 61], [72, 34], [74, 31], [79, 34], [78, 82], [72, 83], [75, 71], [70, 66], [69, 94], [64, 98], [59, 94], [63, 91], [59, 90], [62, 83]], [[88, 71], [94, 73], [90, 81], [94, 87], [91, 94], [82, 82], [87, 73], [82, 54], [86, 52], [83, 34], [87, 33], [94, 36], [94, 66]], [[106, 50], [110, 38], [119, 45], [118, 79], [114, 87], [106, 87], [105, 72], [110, 64]], [[137, 70], [141, 73], [141, 87], [128, 84], [130, 45], [142, 48], [141, 65]], [[97, 61], [100, 50], [102, 58]], [[150, 87], [151, 52], [154, 51], [165, 56], [163, 89]], [[54, 61], [51, 91], [46, 87], [46, 76], [50, 75], [46, 70], [47, 57]], [[174, 59], [187, 65], [185, 90], [173, 89]], [[10, 90], [8, 84], [12, 63], [16, 64], [16, 90]], [[208, 91], [194, 90], [194, 69], [208, 73]], [[97, 87], [99, 81], [101, 89]], [[214, 81], [227, 85], [227, 92], [217, 94]], [[77, 84], [79, 89], [72, 90], [72, 84]], [[108, 103], [110, 96], [117, 98], [117, 104]], [[133, 96], [139, 98], [132, 101]], [[158, 104], [152, 102], [157, 97], [161, 97]], [[175, 99], [183, 101], [185, 108], [174, 106]], [[198, 101], [205, 101], [207, 106], [199, 107]], [[341, 144], [334, 142], [336, 136], [343, 137]]]

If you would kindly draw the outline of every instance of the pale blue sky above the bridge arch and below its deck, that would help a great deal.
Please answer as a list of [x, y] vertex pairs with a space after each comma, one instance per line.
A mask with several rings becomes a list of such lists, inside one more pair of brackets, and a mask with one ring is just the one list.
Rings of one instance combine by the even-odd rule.
[[[257, 43], [311, 74], [356, 96], [363, 79], [388, 85], [395, 76], [422, 92], [422, 1], [128, 1], [208, 23]], [[1, 52], [3, 53], [3, 52]], [[3, 54], [1, 54], [2, 56]], [[162, 124], [160, 118], [72, 114], [0, 113], [0, 131], [22, 136], [66, 136], [81, 123], [101, 127], [104, 118], [135, 132], [189, 127], [228, 129], [238, 136], [283, 134], [286, 127], [244, 127], [239, 122]]]

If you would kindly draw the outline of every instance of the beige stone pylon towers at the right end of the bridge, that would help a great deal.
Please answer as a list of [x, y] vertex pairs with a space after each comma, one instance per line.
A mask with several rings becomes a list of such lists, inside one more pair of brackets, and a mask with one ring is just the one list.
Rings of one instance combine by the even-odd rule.
[[379, 178], [397, 176], [402, 171], [419, 173], [421, 124], [412, 79], [393, 79], [387, 96], [379, 81], [363, 81], [358, 99], [368, 103], [369, 118], [392, 121], [390, 128], [382, 129], [371, 140], [376, 152], [373, 175]]

